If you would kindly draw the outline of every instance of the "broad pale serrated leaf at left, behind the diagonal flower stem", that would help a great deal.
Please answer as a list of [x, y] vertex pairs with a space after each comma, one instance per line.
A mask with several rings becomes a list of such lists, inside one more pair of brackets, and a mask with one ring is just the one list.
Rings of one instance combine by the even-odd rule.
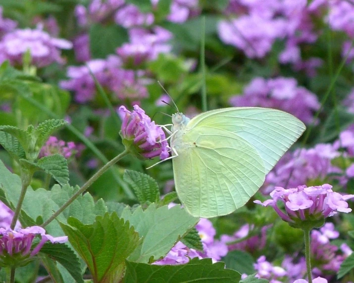
[[[17, 205], [21, 193], [21, 179], [18, 175], [12, 174], [5, 165], [0, 161], [0, 200], [10, 208]], [[23, 200], [22, 210], [26, 215], [24, 222], [32, 219], [37, 225], [51, 217], [64, 202], [78, 191], [79, 187], [63, 187], [54, 185], [51, 190], [37, 189], [34, 191], [28, 187], [26, 196]], [[84, 224], [93, 223], [97, 215], [104, 215], [106, 208], [102, 201], [95, 204], [94, 198], [90, 193], [80, 195], [73, 201], [56, 219], [66, 223], [69, 216], [79, 219]], [[21, 215], [24, 215], [21, 213]], [[37, 220], [39, 222], [37, 222]], [[20, 218], [20, 221], [21, 218]], [[52, 221], [46, 226], [46, 231], [52, 236], [63, 236], [57, 221]]]

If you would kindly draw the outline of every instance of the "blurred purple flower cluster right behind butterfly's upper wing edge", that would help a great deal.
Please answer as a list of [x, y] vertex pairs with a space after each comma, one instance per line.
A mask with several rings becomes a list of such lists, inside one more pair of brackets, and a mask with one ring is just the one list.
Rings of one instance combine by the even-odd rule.
[[243, 95], [230, 98], [230, 104], [280, 109], [293, 114], [304, 123], [312, 122], [313, 112], [320, 107], [315, 94], [299, 87], [296, 79], [284, 77], [268, 80], [254, 78]]

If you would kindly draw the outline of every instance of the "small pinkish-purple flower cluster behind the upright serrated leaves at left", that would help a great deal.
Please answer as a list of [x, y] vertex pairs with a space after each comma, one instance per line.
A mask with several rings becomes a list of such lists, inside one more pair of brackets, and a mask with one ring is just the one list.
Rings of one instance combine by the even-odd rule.
[[49, 137], [46, 144], [41, 148], [39, 157], [44, 157], [52, 154], [61, 154], [65, 158], [69, 158], [77, 152], [77, 146], [74, 142], [64, 142], [56, 137]]

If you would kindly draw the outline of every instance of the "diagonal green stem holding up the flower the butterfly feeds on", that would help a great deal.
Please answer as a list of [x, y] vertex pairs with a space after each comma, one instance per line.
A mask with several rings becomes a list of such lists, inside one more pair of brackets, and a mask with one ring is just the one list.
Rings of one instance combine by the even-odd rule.
[[108, 163], [102, 166], [102, 168], [95, 173], [75, 194], [73, 194], [54, 214], [41, 225], [41, 227], [46, 227], [51, 223], [60, 213], [62, 213], [65, 208], [67, 208], [79, 195], [81, 195], [86, 189], [88, 189], [105, 171], [109, 169], [113, 164], [117, 163], [124, 156], [128, 155], [129, 151], [125, 149], [122, 153], [118, 154]]

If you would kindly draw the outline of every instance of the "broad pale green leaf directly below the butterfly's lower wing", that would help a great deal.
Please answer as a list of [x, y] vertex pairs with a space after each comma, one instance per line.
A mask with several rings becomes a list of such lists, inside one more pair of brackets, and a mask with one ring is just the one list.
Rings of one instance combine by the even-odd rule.
[[145, 211], [139, 206], [134, 212], [125, 208], [121, 217], [143, 237], [129, 260], [144, 263], [165, 256], [199, 221], [179, 205], [168, 209], [167, 206], [156, 208], [151, 204]]

